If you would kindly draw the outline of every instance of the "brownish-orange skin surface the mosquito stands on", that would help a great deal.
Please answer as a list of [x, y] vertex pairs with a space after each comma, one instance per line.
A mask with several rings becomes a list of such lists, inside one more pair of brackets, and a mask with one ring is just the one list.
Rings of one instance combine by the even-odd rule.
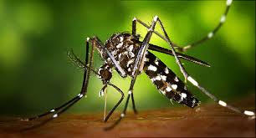
[[[255, 110], [254, 96], [239, 100], [233, 105]], [[127, 113], [125, 120], [114, 130], [103, 130], [119, 116], [115, 113], [105, 124], [103, 113], [64, 114], [38, 128], [28, 129], [42, 120], [21, 121], [1, 117], [0, 137], [138, 137], [138, 136], [230, 136], [254, 137], [255, 120], [239, 115], [217, 104], [202, 104], [192, 110], [187, 107], [144, 110], [134, 115]], [[28, 130], [24, 130], [28, 129]]]

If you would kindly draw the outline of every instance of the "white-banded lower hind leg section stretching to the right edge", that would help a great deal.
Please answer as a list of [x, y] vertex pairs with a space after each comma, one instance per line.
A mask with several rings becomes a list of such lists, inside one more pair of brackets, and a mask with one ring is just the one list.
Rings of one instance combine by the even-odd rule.
[[218, 103], [218, 105], [222, 105], [226, 108], [228, 108], [229, 110], [233, 110], [235, 112], [241, 113], [243, 115], [248, 115], [248, 116], [252, 116], [252, 118], [255, 118], [255, 113], [253, 111], [250, 110], [239, 110], [237, 107], [233, 107], [232, 105], [228, 105], [226, 102], [224, 102], [223, 100], [218, 100], [218, 98], [214, 95], [212, 95], [210, 92], [207, 91], [207, 89], [204, 89], [202, 86], [200, 86], [197, 81], [195, 79], [193, 79], [191, 76], [188, 76], [187, 80], [189, 82], [191, 82], [194, 86], [196, 86], [198, 89], [200, 89], [202, 91], [203, 94], [207, 95], [208, 97], [210, 97], [212, 100], [214, 100], [215, 102]]

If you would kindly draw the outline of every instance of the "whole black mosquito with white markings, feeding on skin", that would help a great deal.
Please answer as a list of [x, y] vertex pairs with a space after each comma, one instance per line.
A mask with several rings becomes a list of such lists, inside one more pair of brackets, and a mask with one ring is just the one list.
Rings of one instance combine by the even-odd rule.
[[[105, 43], [102, 43], [100, 39], [96, 36], [92, 38], [87, 38], [85, 42], [85, 62], [79, 59], [74, 54], [72, 49], [68, 53], [69, 59], [71, 59], [74, 64], [77, 64], [80, 68], [84, 70], [84, 80], [79, 95], [75, 96], [72, 100], [64, 103], [64, 105], [60, 105], [59, 107], [56, 107], [53, 110], [49, 110], [42, 115], [28, 118], [28, 120], [38, 119], [49, 114], [52, 115], [49, 120], [53, 120], [54, 118], [61, 115], [65, 110], [68, 110], [69, 107], [74, 105], [77, 101], [81, 100], [83, 97], [86, 97], [87, 88], [90, 84], [90, 74], [91, 72], [93, 72], [94, 74], [99, 76], [104, 85], [103, 88], [100, 90], [99, 95], [104, 95], [107, 86], [113, 87], [117, 92], [120, 93], [120, 100], [115, 104], [113, 109], [110, 110], [110, 112], [104, 117], [104, 121], [106, 122], [107, 120], [109, 120], [112, 113], [120, 105], [125, 97], [121, 89], [119, 89], [115, 84], [110, 83], [113, 68], [118, 72], [118, 74], [120, 74], [122, 78], [126, 78], [128, 76], [131, 77], [131, 84], [125, 101], [124, 110], [121, 112], [119, 119], [115, 120], [115, 123], [107, 127], [106, 130], [114, 128], [115, 125], [118, 125], [120, 123], [120, 120], [125, 117], [127, 105], [129, 104], [130, 99], [133, 111], [137, 113], [133, 90], [134, 84], [136, 83], [136, 78], [142, 73], [142, 71], [147, 74], [147, 76], [151, 79], [152, 83], [155, 84], [156, 89], [158, 89], [162, 95], [166, 95], [168, 99], [174, 100], [179, 104], [187, 105], [191, 108], [194, 108], [200, 104], [200, 101], [197, 100], [197, 98], [187, 89], [186, 83], [187, 81], [189, 81], [195, 87], [197, 87], [197, 89], [200, 89], [203, 94], [207, 95], [209, 98], [217, 102], [218, 105], [222, 105], [229, 110], [233, 110], [243, 115], [248, 115], [252, 116], [252, 118], [255, 118], [255, 113], [253, 111], [239, 110], [238, 108], [233, 107], [232, 105], [228, 105], [223, 100], [219, 100], [216, 96], [212, 95], [209, 91], [207, 91], [207, 89], [203, 88], [196, 81], [196, 79], [193, 79], [192, 76], [187, 73], [180, 60], [185, 59], [195, 64], [200, 64], [207, 67], [210, 66], [209, 64], [203, 62], [200, 59], [196, 59], [187, 54], [182, 54], [179, 52], [185, 52], [188, 49], [192, 49], [198, 44], [203, 43], [208, 39], [211, 39], [225, 22], [231, 3], [232, 0], [227, 0], [226, 9], [223, 13], [223, 16], [220, 18], [217, 27], [214, 28], [212, 32], [207, 33], [207, 35], [202, 39], [199, 39], [194, 43], [188, 44], [185, 47], [178, 46], [176, 43], [173, 43], [171, 41], [160, 18], [158, 18], [157, 16], [153, 18], [151, 25], [147, 25], [138, 18], [133, 18], [131, 33], [115, 33]], [[140, 41], [140, 35], [136, 33], [137, 23], [140, 23], [142, 26], [147, 28], [146, 36], [143, 38], [142, 41]], [[163, 35], [155, 30], [156, 23], [159, 23]], [[170, 49], [164, 49], [155, 44], [151, 44], [150, 40], [153, 33], [163, 39], [166, 43], [168, 43]], [[90, 44], [92, 45], [91, 49]], [[105, 60], [105, 63], [102, 64], [98, 70], [95, 70], [93, 68], [95, 49], [98, 50], [101, 58]], [[160, 52], [162, 54], [169, 54], [174, 56], [176, 63], [178, 64], [179, 69], [181, 70], [182, 75], [185, 78], [185, 81], [183, 82], [182, 79], [178, 78], [177, 75], [172, 71], [172, 69], [168, 68], [166, 64], [164, 64], [160, 59], [156, 58], [156, 56], [152, 54], [149, 49]]]

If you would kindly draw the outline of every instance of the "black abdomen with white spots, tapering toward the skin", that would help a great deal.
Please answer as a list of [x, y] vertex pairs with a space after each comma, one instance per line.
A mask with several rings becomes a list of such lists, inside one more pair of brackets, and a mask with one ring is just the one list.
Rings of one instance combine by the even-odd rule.
[[199, 101], [187, 90], [182, 80], [149, 51], [146, 54], [144, 71], [156, 85], [156, 88], [170, 100], [175, 100], [192, 108], [199, 104]]

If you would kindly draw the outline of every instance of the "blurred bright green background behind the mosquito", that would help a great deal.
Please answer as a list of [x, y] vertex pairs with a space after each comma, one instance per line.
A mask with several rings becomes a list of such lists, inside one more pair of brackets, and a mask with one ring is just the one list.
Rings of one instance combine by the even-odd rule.
[[[88, 36], [97, 35], [105, 42], [112, 33], [131, 31], [132, 18], [151, 23], [153, 16], [158, 15], [171, 39], [186, 45], [207, 35], [218, 24], [225, 4], [225, 1], [0, 0], [0, 115], [42, 113], [77, 95], [83, 72], [69, 62], [66, 52], [73, 48], [84, 59], [84, 40]], [[212, 67], [187, 61], [184, 66], [212, 94], [234, 102], [255, 93], [255, 1], [234, 1], [226, 21], [211, 40], [187, 52]], [[138, 26], [138, 33], [144, 36], [146, 29]], [[155, 36], [151, 43], [168, 48]], [[173, 57], [154, 54], [182, 78]], [[96, 54], [95, 68], [102, 63]], [[125, 94], [130, 81], [114, 72], [112, 82]], [[104, 98], [98, 97], [102, 88], [100, 79], [92, 75], [89, 85], [87, 98], [74, 105], [69, 113], [103, 112]], [[188, 89], [202, 104], [212, 102], [191, 84]], [[108, 91], [110, 109], [120, 95], [113, 89]], [[134, 93], [138, 110], [172, 110], [181, 106], [172, 105], [160, 95], [146, 74], [136, 80]]]

